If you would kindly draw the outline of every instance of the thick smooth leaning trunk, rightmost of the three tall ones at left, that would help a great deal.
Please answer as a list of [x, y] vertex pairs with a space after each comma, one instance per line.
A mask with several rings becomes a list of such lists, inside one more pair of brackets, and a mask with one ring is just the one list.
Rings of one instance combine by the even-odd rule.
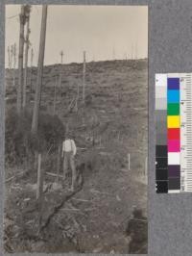
[[33, 113], [33, 120], [32, 120], [33, 133], [37, 132], [37, 127], [38, 127], [38, 115], [39, 115], [40, 99], [41, 99], [41, 87], [42, 87], [42, 75], [43, 75], [43, 63], [44, 63], [44, 51], [45, 51], [46, 24], [47, 24], [47, 5], [43, 5], [42, 18], [41, 18], [40, 43], [39, 43], [39, 52], [38, 52], [36, 95], [35, 95], [34, 113]]

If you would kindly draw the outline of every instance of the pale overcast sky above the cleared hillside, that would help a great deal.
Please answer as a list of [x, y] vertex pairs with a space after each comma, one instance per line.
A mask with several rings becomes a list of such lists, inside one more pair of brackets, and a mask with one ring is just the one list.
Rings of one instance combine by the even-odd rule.
[[[8, 46], [18, 45], [20, 5], [6, 6], [6, 66]], [[41, 6], [32, 6], [30, 40], [37, 62]], [[135, 6], [49, 6], [45, 64], [146, 58], [148, 8]], [[30, 61], [29, 61], [30, 63]]]

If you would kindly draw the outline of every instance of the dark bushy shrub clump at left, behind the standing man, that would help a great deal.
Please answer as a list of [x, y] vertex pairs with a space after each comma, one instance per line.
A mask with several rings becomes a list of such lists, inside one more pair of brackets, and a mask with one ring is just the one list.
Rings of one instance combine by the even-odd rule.
[[58, 115], [39, 114], [38, 130], [31, 131], [32, 111], [24, 111], [17, 115], [11, 110], [6, 115], [6, 164], [23, 164], [26, 159], [32, 158], [35, 152], [46, 152], [58, 148], [63, 140], [65, 127]]

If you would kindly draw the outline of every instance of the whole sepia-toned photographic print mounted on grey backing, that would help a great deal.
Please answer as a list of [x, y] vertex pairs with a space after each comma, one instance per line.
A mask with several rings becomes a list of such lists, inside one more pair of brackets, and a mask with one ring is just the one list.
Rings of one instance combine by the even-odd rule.
[[148, 7], [6, 5], [4, 249], [148, 251]]

